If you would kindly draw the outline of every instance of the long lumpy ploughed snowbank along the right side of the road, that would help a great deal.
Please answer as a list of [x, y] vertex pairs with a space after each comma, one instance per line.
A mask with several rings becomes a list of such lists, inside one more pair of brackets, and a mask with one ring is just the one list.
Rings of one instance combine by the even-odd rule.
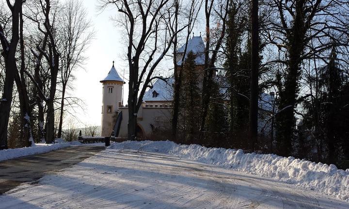
[[126, 141], [113, 143], [110, 148], [171, 154], [180, 158], [285, 181], [349, 201], [349, 169], [340, 170], [333, 164], [316, 164], [274, 154], [244, 153], [242, 149], [178, 145], [171, 141]]

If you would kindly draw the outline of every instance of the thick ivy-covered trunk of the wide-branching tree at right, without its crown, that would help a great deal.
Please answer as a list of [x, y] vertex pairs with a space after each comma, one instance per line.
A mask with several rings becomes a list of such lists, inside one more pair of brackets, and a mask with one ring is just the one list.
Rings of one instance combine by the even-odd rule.
[[292, 139], [296, 119], [294, 117], [294, 108], [299, 91], [298, 80], [301, 75], [301, 54], [304, 48], [305, 23], [303, 18], [304, 1], [296, 1], [296, 12], [292, 28], [287, 33], [288, 60], [285, 76], [284, 89], [280, 90], [279, 109], [286, 108], [282, 113], [275, 117], [277, 154], [289, 156], [292, 154]]

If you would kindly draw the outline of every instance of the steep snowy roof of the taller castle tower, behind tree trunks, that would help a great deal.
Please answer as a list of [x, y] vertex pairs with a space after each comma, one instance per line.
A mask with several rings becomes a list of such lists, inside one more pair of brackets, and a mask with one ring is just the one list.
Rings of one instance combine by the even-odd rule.
[[[184, 53], [185, 44], [182, 45], [177, 53]], [[205, 64], [205, 43], [201, 36], [193, 36], [188, 40], [187, 52], [185, 54], [184, 60], [187, 59], [189, 52], [192, 51], [196, 55], [195, 64], [203, 65]], [[182, 59], [177, 62], [177, 65], [182, 65]]]

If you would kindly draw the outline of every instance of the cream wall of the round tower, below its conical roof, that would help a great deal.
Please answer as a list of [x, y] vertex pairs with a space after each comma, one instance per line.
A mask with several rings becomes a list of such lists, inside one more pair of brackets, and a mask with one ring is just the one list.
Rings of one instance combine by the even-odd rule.
[[[103, 82], [101, 136], [110, 136], [114, 128], [117, 112], [119, 111], [118, 103], [122, 100], [122, 85], [123, 82], [121, 81]], [[112, 88], [111, 92], [110, 88]], [[108, 111], [109, 107], [111, 107], [111, 111]]]

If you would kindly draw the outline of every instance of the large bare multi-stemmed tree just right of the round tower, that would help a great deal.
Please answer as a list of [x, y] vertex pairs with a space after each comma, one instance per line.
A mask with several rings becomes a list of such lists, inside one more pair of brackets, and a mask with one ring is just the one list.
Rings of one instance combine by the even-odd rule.
[[137, 112], [142, 105], [144, 92], [150, 87], [152, 80], [163, 79], [152, 76], [153, 72], [171, 48], [175, 35], [188, 25], [176, 31], [170, 30], [179, 13], [173, 0], [102, 0], [102, 2], [104, 6], [108, 4], [116, 6], [122, 14], [118, 23], [127, 31], [129, 68], [127, 130], [128, 139], [134, 140]]

